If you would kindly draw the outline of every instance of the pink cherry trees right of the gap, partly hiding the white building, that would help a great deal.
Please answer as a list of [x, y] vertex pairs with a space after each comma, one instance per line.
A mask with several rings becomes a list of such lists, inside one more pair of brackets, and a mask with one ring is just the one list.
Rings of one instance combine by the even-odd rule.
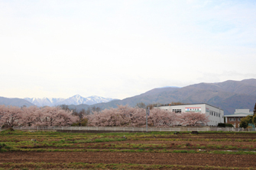
[[[146, 110], [139, 107], [119, 105], [118, 108], [94, 112], [86, 118], [89, 126], [93, 127], [144, 127], [146, 126]], [[170, 127], [176, 125], [196, 126], [198, 123], [207, 124], [206, 114], [186, 112], [176, 114], [170, 111], [152, 109], [147, 117], [150, 127]]]

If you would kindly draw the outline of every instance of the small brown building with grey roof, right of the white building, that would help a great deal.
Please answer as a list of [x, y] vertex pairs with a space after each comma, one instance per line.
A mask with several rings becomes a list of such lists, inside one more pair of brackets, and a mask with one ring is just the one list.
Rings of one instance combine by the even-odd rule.
[[254, 113], [250, 111], [250, 109], [235, 109], [234, 114], [225, 115], [225, 122], [231, 123], [235, 128], [238, 128], [241, 122], [241, 118], [247, 117], [249, 115], [254, 115]]

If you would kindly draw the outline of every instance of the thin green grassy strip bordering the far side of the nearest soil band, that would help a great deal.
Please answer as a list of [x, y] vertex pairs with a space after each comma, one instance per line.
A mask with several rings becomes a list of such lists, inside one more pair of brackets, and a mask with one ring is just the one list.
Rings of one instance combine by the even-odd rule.
[[200, 150], [167, 150], [167, 149], [6, 149], [2, 152], [165, 152], [165, 153], [205, 153], [223, 155], [256, 155], [256, 152], [200, 151]]

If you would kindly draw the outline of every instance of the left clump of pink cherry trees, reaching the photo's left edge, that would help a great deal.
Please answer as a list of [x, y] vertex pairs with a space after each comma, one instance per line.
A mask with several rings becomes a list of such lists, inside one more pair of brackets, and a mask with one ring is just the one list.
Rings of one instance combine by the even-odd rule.
[[79, 117], [73, 116], [72, 111], [60, 107], [15, 107], [0, 105], [0, 126], [5, 127], [52, 127], [70, 126]]

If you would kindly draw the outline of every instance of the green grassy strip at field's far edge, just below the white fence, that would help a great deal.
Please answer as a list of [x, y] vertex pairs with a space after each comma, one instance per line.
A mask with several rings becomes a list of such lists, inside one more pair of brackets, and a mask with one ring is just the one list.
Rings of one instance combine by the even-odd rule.
[[[200, 135], [201, 132], [199, 132]], [[243, 132], [214, 132], [214, 131], [209, 131], [209, 132], [202, 132], [203, 134], [207, 134], [207, 133], [222, 133], [225, 135], [232, 135], [232, 136], [236, 136], [237, 135], [248, 135], [247, 133], [243, 133]], [[251, 132], [251, 134], [256, 133], [256, 132]], [[63, 138], [68, 139], [68, 140], [75, 140], [77, 138], [86, 138], [87, 140], [90, 140], [93, 137], [99, 137], [100, 138], [104, 138], [107, 136], [115, 136], [115, 137], [122, 137], [122, 136], [127, 136], [131, 139], [136, 139], [136, 140], [142, 140], [140, 138], [145, 137], [152, 137], [157, 136], [157, 138], [155, 140], [170, 140], [170, 139], [161, 139], [161, 136], [165, 137], [171, 137], [173, 136], [173, 132], [149, 132], [149, 133], [59, 133], [59, 132], [44, 132], [44, 131], [38, 131], [38, 132], [26, 132], [26, 131], [21, 131], [21, 130], [15, 130], [15, 131], [9, 131], [9, 130], [4, 130], [2, 132], [0, 132], [0, 135], [2, 136], [2, 140], [5, 137], [15, 137], [15, 136], [26, 136], [28, 139], [29, 138], [47, 138], [47, 139], [57, 139], [57, 140], [61, 140]], [[191, 135], [189, 134], [189, 132], [180, 132], [180, 134], [178, 136], [197, 136], [197, 135]], [[138, 139], [139, 138], [139, 139]], [[10, 140], [16, 140], [16, 139], [10, 139]], [[85, 139], [84, 139], [85, 140]], [[148, 138], [144, 139], [144, 140], [149, 140]], [[152, 140], [152, 139], [151, 139]], [[201, 140], [201, 139], [171, 139], [173, 141], [177, 140], [184, 140], [184, 141], [192, 141], [192, 140]], [[204, 140], [204, 139], [203, 139]], [[206, 139], [206, 141], [233, 141], [232, 139]], [[49, 142], [47, 140], [47, 142]], [[99, 142], [104, 142], [104, 141], [99, 141]], [[256, 140], [237, 140], [236, 142], [256, 142]]]

